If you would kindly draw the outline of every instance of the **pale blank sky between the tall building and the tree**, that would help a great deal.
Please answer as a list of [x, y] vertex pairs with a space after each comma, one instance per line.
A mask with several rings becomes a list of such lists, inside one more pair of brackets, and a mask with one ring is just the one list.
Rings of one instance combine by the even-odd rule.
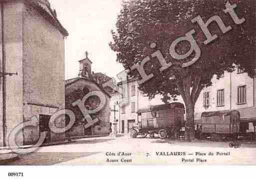
[[112, 41], [122, 0], [49, 0], [57, 17], [67, 29], [65, 40], [65, 79], [78, 76], [78, 61], [88, 57], [92, 71], [115, 77], [123, 67], [108, 45]]

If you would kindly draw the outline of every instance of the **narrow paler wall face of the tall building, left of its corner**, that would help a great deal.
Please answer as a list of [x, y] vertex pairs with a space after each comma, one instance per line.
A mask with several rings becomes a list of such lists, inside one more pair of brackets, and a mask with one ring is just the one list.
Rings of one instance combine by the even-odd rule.
[[[5, 142], [11, 130], [23, 121], [23, 75], [22, 75], [22, 9], [21, 1], [8, 1], [3, 4], [3, 39], [0, 41], [0, 64], [4, 60], [5, 72], [17, 72], [18, 75], [6, 76], [5, 85], [0, 84], [0, 146], [3, 145], [3, 110], [5, 113]], [[3, 29], [1, 26], [3, 25]], [[4, 45], [4, 59], [2, 56]], [[0, 70], [3, 69], [0, 66]], [[1, 78], [2, 80], [3, 78]], [[4, 95], [3, 93], [4, 88]], [[2, 96], [4, 96], [2, 98]], [[3, 105], [5, 101], [6, 105]], [[16, 136], [17, 145], [23, 144], [22, 133]]]

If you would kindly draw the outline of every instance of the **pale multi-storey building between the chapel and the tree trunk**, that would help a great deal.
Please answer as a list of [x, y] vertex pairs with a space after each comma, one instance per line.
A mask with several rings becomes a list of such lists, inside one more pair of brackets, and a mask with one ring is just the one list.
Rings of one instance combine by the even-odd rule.
[[[161, 100], [161, 95], [156, 95], [155, 98], [149, 99], [143, 92], [139, 90], [139, 80], [128, 80], [118, 83], [118, 86], [123, 89], [122, 94], [118, 92], [112, 93], [110, 102], [111, 109], [118, 110], [118, 112], [111, 112], [110, 121], [114, 121], [116, 115], [117, 132], [127, 134], [130, 129], [141, 122], [141, 116], [138, 114], [139, 110], [147, 109], [150, 106], [162, 105], [164, 102]], [[126, 101], [127, 104], [119, 107], [118, 103]], [[181, 97], [178, 97], [178, 101], [182, 101]]]

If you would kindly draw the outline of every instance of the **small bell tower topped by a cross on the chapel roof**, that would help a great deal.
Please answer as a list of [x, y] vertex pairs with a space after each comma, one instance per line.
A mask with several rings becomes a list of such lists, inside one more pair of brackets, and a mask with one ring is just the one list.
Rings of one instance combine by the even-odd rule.
[[88, 52], [85, 52], [85, 58], [79, 61], [79, 77], [91, 77], [91, 60], [88, 58]]

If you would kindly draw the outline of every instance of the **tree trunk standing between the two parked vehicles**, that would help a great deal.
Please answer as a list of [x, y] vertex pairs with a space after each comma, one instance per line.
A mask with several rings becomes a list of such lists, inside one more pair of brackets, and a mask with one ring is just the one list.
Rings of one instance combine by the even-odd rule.
[[195, 139], [195, 127], [194, 127], [194, 115], [195, 107], [193, 104], [186, 104], [186, 131], [185, 139], [188, 141]]

